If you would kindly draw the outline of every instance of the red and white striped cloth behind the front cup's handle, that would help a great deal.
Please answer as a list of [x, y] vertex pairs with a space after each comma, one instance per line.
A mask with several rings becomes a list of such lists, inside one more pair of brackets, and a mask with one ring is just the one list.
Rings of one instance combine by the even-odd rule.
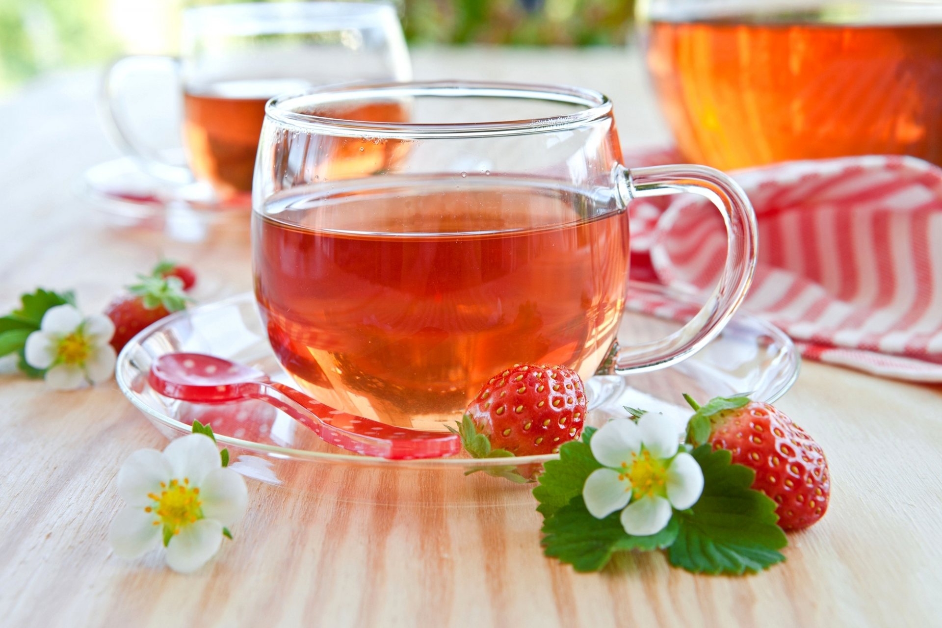
[[[671, 159], [649, 154], [643, 165]], [[942, 169], [866, 156], [732, 176], [753, 201], [759, 228], [747, 310], [785, 330], [812, 360], [942, 381]], [[683, 195], [634, 201], [630, 212], [633, 277], [712, 289], [726, 254], [715, 208]], [[665, 314], [664, 303], [643, 307]]]

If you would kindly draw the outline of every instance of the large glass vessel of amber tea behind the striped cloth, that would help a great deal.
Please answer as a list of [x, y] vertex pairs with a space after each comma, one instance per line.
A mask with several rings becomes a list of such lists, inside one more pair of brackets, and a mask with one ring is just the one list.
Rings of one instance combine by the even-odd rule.
[[942, 165], [937, 0], [639, 0], [686, 159], [736, 169], [910, 154]]

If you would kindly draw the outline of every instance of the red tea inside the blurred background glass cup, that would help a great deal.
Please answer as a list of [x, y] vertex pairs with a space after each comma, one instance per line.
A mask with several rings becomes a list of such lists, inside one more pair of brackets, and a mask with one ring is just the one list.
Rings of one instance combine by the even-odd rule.
[[[223, 196], [252, 191], [255, 152], [265, 119], [268, 99], [284, 91], [297, 90], [296, 82], [230, 81], [210, 89], [187, 90], [184, 94], [184, 137], [189, 167], [196, 177], [208, 181]], [[403, 121], [405, 113], [396, 103], [375, 103], [317, 112], [333, 118], [358, 121]], [[393, 147], [363, 139], [350, 139], [321, 155], [323, 176], [349, 178], [383, 169]]]

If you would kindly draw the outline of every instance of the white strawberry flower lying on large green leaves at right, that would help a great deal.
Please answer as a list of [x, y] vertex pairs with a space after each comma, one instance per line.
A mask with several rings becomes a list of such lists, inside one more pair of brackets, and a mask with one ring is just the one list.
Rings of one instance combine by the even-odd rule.
[[621, 510], [625, 532], [657, 534], [671, 521], [673, 509], [697, 503], [704, 488], [700, 465], [678, 453], [673, 422], [645, 413], [636, 424], [615, 419], [593, 434], [593, 456], [604, 465], [586, 478], [582, 498], [596, 519]]

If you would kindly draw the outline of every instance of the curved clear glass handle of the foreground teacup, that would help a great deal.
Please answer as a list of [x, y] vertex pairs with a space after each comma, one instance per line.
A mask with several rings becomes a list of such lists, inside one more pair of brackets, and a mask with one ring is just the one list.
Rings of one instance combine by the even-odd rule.
[[690, 192], [716, 205], [726, 225], [726, 263], [720, 282], [700, 312], [669, 336], [634, 346], [613, 346], [599, 374], [639, 373], [670, 366], [713, 340], [745, 298], [755, 273], [758, 232], [752, 203], [735, 181], [706, 166], [652, 166], [619, 169], [622, 201]]

